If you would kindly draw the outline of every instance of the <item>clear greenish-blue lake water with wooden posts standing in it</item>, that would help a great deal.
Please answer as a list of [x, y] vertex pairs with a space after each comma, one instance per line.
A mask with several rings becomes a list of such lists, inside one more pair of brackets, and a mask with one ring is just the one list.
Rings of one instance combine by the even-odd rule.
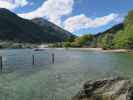
[[[53, 52], [55, 64], [50, 64]], [[37, 54], [34, 66], [33, 54]], [[129, 53], [27, 49], [1, 50], [0, 55], [6, 71], [0, 75], [0, 100], [70, 100], [87, 80], [133, 76], [133, 54]]]

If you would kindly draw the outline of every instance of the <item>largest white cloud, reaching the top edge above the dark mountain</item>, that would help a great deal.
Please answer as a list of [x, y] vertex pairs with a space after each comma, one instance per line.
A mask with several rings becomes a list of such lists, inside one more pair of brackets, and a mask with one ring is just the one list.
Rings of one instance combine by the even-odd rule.
[[61, 24], [61, 17], [72, 12], [74, 0], [47, 0], [35, 11], [18, 14], [27, 19], [46, 16], [51, 22]]

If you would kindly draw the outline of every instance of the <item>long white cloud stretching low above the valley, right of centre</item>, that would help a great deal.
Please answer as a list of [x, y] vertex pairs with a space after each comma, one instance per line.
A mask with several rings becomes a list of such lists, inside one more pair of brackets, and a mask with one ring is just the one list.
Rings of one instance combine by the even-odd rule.
[[112, 13], [107, 16], [91, 19], [84, 14], [81, 14], [68, 18], [64, 22], [64, 28], [70, 32], [74, 32], [79, 29], [96, 28], [114, 21], [117, 17], [118, 14]]

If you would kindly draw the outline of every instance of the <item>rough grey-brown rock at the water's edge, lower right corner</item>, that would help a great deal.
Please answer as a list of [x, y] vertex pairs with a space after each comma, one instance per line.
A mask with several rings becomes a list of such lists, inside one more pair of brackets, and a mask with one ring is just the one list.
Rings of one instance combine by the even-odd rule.
[[72, 100], [133, 100], [133, 84], [122, 77], [88, 81]]

